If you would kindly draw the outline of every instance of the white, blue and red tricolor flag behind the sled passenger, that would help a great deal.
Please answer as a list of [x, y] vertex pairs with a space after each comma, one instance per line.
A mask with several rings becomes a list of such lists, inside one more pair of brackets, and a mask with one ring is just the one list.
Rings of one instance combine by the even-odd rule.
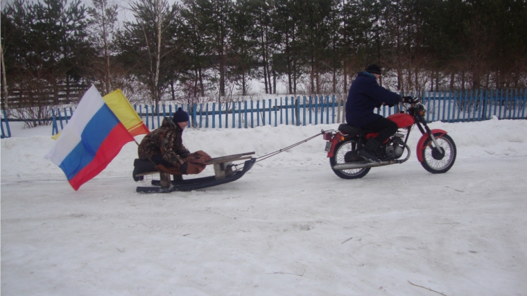
[[[130, 110], [125, 111], [130, 116], [135, 115], [136, 121], [142, 123], [131, 105]], [[137, 126], [144, 126], [141, 123], [135, 124], [135, 134], [138, 134]], [[139, 130], [141, 134], [148, 132], [146, 126]], [[134, 141], [132, 134], [92, 86], [80, 100], [71, 120], [46, 157], [62, 168], [69, 184], [78, 190], [80, 185], [101, 173], [130, 141]]]

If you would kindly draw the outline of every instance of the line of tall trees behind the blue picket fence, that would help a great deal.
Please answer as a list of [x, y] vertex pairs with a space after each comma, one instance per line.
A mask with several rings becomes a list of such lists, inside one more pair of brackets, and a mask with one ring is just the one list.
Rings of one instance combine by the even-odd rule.
[[[120, 19], [123, 12], [131, 17]], [[345, 94], [368, 64], [397, 92], [527, 85], [524, 0], [15, 0], [1, 96], [94, 83], [131, 101]]]

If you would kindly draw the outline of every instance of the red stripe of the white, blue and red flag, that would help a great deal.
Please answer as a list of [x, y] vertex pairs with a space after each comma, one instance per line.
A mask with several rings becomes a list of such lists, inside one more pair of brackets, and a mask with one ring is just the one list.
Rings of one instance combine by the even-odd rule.
[[75, 177], [71, 178], [69, 184], [77, 191], [80, 185], [85, 184], [98, 173], [101, 173], [112, 162], [112, 159], [119, 154], [121, 148], [131, 141], [134, 141], [134, 138], [126, 130], [123, 123], [115, 125], [115, 128], [110, 131], [108, 137], [101, 143], [92, 162], [80, 170]]

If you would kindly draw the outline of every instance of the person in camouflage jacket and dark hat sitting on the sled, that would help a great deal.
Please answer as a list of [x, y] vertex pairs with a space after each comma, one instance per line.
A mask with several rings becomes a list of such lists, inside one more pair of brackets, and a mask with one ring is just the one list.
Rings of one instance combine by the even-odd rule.
[[205, 169], [205, 162], [211, 157], [203, 151], [190, 153], [183, 145], [182, 134], [188, 124], [189, 114], [179, 108], [173, 118], [166, 117], [159, 128], [146, 134], [137, 149], [139, 159], [134, 162], [136, 182], [143, 180], [136, 175], [146, 171], [157, 170], [162, 177], [165, 173], [174, 175], [175, 180], [182, 180], [181, 175], [197, 174]]

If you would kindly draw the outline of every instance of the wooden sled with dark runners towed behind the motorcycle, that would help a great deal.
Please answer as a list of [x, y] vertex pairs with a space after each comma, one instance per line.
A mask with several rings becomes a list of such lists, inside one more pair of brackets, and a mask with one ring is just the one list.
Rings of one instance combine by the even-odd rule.
[[[168, 193], [173, 191], [191, 191], [234, 182], [241, 178], [245, 173], [247, 173], [247, 171], [252, 168], [254, 162], [256, 162], [256, 158], [251, 157], [250, 155], [254, 155], [254, 152], [227, 155], [209, 160], [205, 164], [214, 165], [214, 176], [200, 177], [189, 180], [171, 181], [171, 186], [169, 188], [162, 188], [160, 186], [162, 183], [161, 180], [152, 180], [152, 185], [154, 186], [139, 186], [137, 187], [136, 191], [143, 193]], [[236, 169], [237, 165], [232, 164], [232, 162], [239, 162], [241, 160], [245, 160], [245, 162], [243, 163], [243, 168]], [[144, 175], [153, 174], [166, 173], [159, 173], [159, 171], [150, 171], [146, 173], [139, 173], [136, 176], [140, 177]], [[163, 179], [162, 175], [160, 175], [160, 177], [161, 179]]]

